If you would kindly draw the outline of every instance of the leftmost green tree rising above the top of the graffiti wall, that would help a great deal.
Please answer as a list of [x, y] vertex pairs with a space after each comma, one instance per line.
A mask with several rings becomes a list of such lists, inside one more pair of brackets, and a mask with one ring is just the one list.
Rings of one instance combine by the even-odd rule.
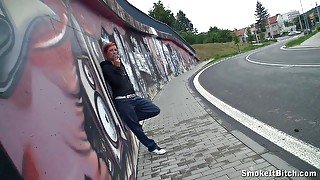
[[165, 9], [160, 0], [157, 3], [153, 3], [153, 9], [149, 11], [149, 16], [166, 23], [171, 28], [174, 28], [176, 19], [171, 10]]

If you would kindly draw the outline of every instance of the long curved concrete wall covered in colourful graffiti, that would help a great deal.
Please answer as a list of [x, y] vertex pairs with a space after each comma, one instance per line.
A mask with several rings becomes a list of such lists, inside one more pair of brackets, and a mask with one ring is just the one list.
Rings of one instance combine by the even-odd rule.
[[0, 1], [0, 179], [136, 178], [138, 142], [114, 108], [101, 47], [116, 42], [151, 99], [196, 60], [126, 16], [116, 1]]

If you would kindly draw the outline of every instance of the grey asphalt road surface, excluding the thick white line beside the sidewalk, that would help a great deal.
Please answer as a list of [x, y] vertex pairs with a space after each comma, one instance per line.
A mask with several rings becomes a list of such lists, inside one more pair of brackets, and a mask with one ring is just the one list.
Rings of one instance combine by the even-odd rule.
[[216, 64], [199, 82], [226, 104], [320, 148], [320, 49], [281, 50], [284, 44]]

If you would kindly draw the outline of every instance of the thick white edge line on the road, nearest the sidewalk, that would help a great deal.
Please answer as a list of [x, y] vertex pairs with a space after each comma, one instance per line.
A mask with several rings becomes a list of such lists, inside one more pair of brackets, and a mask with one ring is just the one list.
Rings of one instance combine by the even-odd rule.
[[[213, 64], [215, 65], [215, 64]], [[209, 66], [211, 67], [211, 66]], [[207, 68], [209, 68], [207, 67]], [[297, 156], [301, 160], [309, 163], [310, 165], [320, 169], [320, 149], [301, 141], [293, 136], [290, 136], [278, 129], [275, 129], [237, 109], [226, 104], [220, 99], [214, 97], [208, 91], [206, 91], [199, 83], [200, 74], [207, 68], [200, 71], [194, 78], [193, 84], [197, 91], [206, 98], [211, 104], [219, 108], [221, 111], [253, 130], [260, 136], [268, 139], [272, 143], [288, 151], [289, 153]]]

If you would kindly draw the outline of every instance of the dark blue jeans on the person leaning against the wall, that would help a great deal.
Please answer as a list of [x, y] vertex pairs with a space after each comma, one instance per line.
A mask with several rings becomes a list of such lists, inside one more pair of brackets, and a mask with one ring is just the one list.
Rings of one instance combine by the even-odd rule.
[[150, 100], [136, 96], [130, 99], [115, 99], [115, 106], [123, 121], [137, 136], [139, 141], [153, 151], [158, 148], [157, 143], [153, 139], [149, 139], [143, 132], [142, 125], [139, 121], [154, 117], [160, 113], [160, 109]]

